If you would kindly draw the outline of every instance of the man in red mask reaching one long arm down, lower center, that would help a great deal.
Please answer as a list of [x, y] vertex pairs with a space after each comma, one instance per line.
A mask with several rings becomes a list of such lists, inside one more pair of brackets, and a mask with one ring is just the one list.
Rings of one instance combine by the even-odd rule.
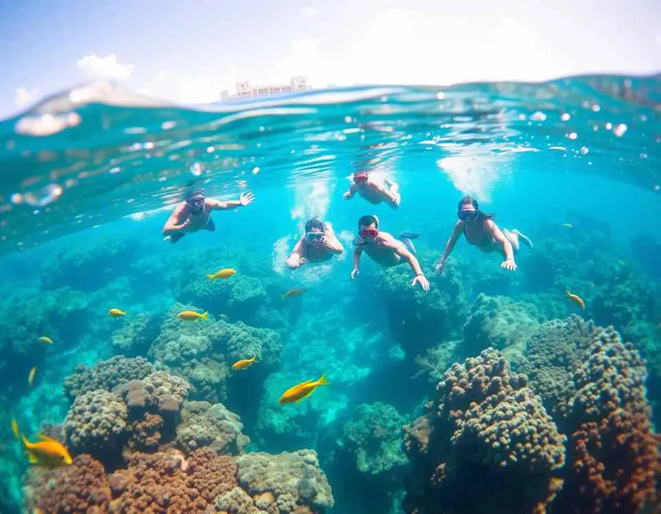
[[[404, 237], [400, 241], [388, 232], [379, 230], [379, 218], [374, 215], [362, 216], [358, 220], [358, 230], [356, 247], [353, 251], [351, 280], [355, 280], [359, 274], [360, 255], [365, 252], [375, 263], [383, 267], [392, 267], [405, 261], [408, 262], [415, 273], [411, 285], [419, 284], [424, 291], [429, 291], [429, 280], [423, 274], [420, 264], [413, 254], [415, 249], [408, 238]], [[410, 236], [415, 236], [415, 234], [410, 234]]]

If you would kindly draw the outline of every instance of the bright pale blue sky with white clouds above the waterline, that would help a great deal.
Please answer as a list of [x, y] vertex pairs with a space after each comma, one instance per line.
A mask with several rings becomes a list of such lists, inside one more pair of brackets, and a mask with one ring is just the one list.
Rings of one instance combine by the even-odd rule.
[[661, 72], [658, 0], [0, 0], [0, 119], [94, 79], [175, 103], [314, 87]]

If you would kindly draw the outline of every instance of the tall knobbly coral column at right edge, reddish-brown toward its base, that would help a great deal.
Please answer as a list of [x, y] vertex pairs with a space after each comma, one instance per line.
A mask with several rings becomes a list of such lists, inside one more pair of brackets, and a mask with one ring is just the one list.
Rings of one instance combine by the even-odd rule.
[[638, 513], [661, 475], [644, 388], [645, 363], [612, 327], [594, 332], [574, 373], [571, 446], [560, 512]]

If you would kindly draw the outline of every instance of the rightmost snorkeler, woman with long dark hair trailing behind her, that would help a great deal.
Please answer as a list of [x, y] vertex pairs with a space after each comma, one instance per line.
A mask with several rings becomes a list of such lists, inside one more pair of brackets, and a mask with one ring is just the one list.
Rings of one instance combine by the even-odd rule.
[[454, 224], [452, 235], [448, 239], [448, 243], [445, 244], [443, 256], [436, 265], [437, 274], [441, 274], [441, 271], [443, 271], [445, 261], [448, 260], [448, 256], [452, 253], [452, 249], [454, 249], [454, 245], [461, 234], [466, 236], [466, 240], [470, 245], [475, 245], [487, 254], [494, 251], [494, 249], [499, 250], [505, 256], [501, 268], [510, 269], [511, 271], [516, 269], [514, 254], [518, 252], [519, 240], [532, 248], [532, 241], [518, 230], [503, 229], [501, 231], [494, 221], [494, 216], [484, 214], [479, 210], [477, 201], [472, 196], [461, 198], [457, 216], [459, 216], [459, 221]]

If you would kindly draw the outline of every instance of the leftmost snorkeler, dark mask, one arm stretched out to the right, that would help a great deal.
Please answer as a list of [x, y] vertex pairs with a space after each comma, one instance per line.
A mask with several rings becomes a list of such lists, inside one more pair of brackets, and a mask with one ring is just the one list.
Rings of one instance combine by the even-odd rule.
[[242, 193], [238, 200], [221, 202], [215, 198], [207, 198], [204, 195], [204, 187], [194, 187], [186, 193], [186, 200], [177, 205], [170, 214], [163, 227], [163, 240], [176, 243], [186, 234], [198, 232], [198, 230], [216, 230], [216, 224], [211, 219], [211, 211], [218, 209], [233, 209], [233, 207], [245, 207], [253, 202], [255, 197], [252, 193]]

